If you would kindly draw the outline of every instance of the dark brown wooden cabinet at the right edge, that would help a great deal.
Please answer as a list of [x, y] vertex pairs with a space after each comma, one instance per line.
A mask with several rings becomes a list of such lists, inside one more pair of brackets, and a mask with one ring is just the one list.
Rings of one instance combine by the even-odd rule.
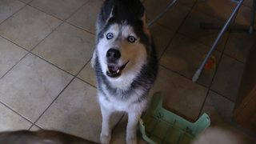
[[246, 61], [234, 119], [242, 126], [256, 132], [256, 46], [250, 50]]

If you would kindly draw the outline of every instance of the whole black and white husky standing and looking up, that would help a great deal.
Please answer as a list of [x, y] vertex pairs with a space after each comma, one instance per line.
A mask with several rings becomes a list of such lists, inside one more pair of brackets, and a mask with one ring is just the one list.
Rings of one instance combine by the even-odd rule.
[[137, 143], [137, 124], [150, 98], [158, 60], [140, 0], [105, 0], [98, 14], [97, 44], [91, 61], [102, 110], [101, 142], [111, 138], [110, 116], [128, 114], [126, 142]]

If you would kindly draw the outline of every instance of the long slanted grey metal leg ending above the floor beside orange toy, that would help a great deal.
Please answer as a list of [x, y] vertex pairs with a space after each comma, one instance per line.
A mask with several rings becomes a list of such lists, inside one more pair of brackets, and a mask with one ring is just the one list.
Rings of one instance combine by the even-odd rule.
[[212, 52], [214, 51], [215, 47], [218, 44], [218, 41], [220, 40], [220, 38], [222, 38], [222, 35], [226, 31], [227, 26], [230, 25], [230, 22], [234, 18], [235, 14], [238, 13], [238, 10], [239, 10], [240, 6], [242, 6], [242, 2], [243, 2], [243, 0], [240, 0], [240, 2], [238, 2], [238, 5], [235, 7], [233, 13], [230, 15], [230, 18], [226, 21], [225, 25], [222, 27], [221, 32], [218, 34], [218, 37], [214, 41], [214, 44], [210, 47], [210, 50], [209, 50], [208, 54], [206, 55], [206, 58], [203, 60], [202, 64], [199, 66], [198, 70], [195, 72], [195, 74], [192, 78], [193, 82], [196, 82], [198, 80], [200, 74], [202, 73], [203, 67], [206, 65], [206, 62], [210, 58], [210, 54], [212, 54]]

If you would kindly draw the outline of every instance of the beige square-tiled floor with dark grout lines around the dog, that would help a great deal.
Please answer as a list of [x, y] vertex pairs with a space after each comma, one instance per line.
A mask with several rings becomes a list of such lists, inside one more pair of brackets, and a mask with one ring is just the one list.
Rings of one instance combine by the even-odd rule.
[[[148, 18], [166, 2], [145, 0]], [[102, 117], [90, 58], [101, 4], [0, 0], [0, 131], [53, 129], [99, 142]], [[235, 22], [248, 24], [250, 5], [246, 0]], [[199, 22], [223, 22], [233, 7], [229, 0], [178, 0], [150, 27], [160, 65], [150, 94], [162, 90], [169, 110], [191, 121], [206, 112], [213, 125], [225, 123], [253, 141], [256, 134], [235, 124], [232, 110], [254, 35], [227, 31], [214, 51], [216, 68], [190, 80], [218, 34]], [[126, 118], [113, 119], [113, 143], [124, 143]]]

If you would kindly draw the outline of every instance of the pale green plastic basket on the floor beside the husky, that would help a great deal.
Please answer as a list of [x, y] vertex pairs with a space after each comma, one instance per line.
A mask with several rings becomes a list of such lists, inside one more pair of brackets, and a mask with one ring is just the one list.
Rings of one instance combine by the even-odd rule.
[[208, 126], [210, 118], [202, 114], [196, 122], [186, 119], [162, 108], [162, 94], [155, 93], [146, 114], [139, 122], [142, 138], [150, 144], [170, 143], [189, 144]]

